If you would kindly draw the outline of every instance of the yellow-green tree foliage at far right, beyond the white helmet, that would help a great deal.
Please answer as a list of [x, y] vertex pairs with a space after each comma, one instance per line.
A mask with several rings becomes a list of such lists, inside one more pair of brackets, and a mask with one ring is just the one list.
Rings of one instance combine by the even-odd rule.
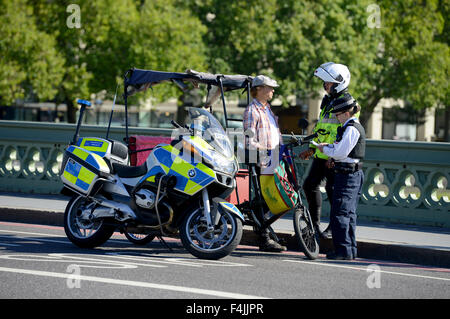
[[383, 97], [406, 100], [416, 109], [448, 107], [450, 51], [448, 38], [441, 38], [448, 16], [438, 1], [386, 0], [380, 6], [381, 48], [374, 60], [379, 71], [365, 91], [366, 118]]

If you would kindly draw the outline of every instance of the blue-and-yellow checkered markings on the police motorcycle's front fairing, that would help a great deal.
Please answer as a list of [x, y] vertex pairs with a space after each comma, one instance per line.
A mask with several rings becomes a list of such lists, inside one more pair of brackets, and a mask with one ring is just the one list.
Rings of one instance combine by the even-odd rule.
[[174, 188], [189, 195], [197, 193], [215, 180], [216, 175], [212, 169], [202, 163], [189, 163], [179, 157], [179, 153], [171, 145], [155, 149], [153, 155], [159, 161], [159, 166], [153, 167], [144, 178], [154, 182], [158, 173], [176, 176]]

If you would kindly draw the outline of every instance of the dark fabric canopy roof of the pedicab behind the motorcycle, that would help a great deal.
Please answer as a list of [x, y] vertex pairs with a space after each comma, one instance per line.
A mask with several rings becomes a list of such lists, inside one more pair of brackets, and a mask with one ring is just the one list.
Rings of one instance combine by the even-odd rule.
[[186, 90], [185, 82], [192, 82], [195, 86], [203, 83], [210, 86], [223, 87], [223, 91], [248, 89], [253, 77], [248, 75], [224, 75], [187, 70], [185, 73], [162, 72], [153, 70], [130, 69], [125, 74], [127, 95], [145, 91], [149, 87], [161, 82], [171, 81], [182, 90]]

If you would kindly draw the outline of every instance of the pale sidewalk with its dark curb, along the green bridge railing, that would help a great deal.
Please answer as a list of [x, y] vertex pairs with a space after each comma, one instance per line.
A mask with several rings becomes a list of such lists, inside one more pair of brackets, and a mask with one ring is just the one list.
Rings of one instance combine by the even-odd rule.
[[[0, 192], [0, 220], [62, 226], [69, 198], [64, 196]], [[325, 228], [327, 221], [322, 223]], [[275, 232], [288, 245], [298, 247], [292, 220], [280, 219]], [[358, 222], [358, 256], [450, 268], [450, 229], [381, 222]], [[256, 245], [256, 236], [245, 227], [243, 244]], [[321, 253], [332, 249], [331, 240], [321, 241]]]

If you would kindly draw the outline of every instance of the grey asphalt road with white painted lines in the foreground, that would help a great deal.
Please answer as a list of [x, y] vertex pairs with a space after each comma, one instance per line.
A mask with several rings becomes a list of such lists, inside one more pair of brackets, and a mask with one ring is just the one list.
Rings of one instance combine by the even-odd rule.
[[[348, 299], [450, 297], [450, 269], [239, 246], [200, 260], [175, 239], [136, 246], [116, 233], [81, 249], [62, 227], [0, 222], [0, 298]], [[227, 309], [230, 311], [230, 309]]]

